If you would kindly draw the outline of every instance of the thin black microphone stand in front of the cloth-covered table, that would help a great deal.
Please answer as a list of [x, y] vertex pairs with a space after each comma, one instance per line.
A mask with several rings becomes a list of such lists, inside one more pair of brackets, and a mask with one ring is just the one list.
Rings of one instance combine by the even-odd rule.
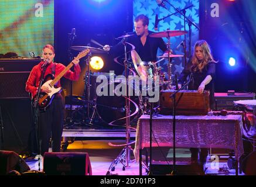
[[171, 174], [176, 175], [176, 93], [184, 89], [191, 81], [192, 81], [192, 75], [193, 73], [190, 74], [189, 81], [186, 82], [180, 89], [176, 90], [175, 92], [172, 93], [172, 95], [169, 96], [169, 98], [173, 98], [173, 119], [172, 119], [172, 133], [173, 133], [173, 169]]

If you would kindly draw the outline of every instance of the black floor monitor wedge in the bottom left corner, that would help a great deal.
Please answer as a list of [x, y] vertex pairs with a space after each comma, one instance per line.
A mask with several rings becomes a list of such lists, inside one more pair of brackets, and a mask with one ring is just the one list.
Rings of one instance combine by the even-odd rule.
[[12, 170], [22, 173], [29, 171], [30, 168], [17, 153], [0, 151], [0, 175], [8, 175]]

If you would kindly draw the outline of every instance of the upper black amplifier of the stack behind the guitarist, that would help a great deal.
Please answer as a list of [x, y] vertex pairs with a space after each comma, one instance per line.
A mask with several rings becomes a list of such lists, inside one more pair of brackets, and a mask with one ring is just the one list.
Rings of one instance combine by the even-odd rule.
[[25, 91], [32, 68], [41, 59], [0, 58], [0, 99], [29, 98]]

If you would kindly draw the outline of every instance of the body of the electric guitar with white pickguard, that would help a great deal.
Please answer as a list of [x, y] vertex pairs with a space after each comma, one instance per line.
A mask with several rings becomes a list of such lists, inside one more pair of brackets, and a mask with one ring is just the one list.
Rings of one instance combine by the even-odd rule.
[[56, 88], [55, 86], [50, 85], [53, 81], [52, 75], [46, 75], [45, 80], [43, 81], [42, 86], [47, 86], [49, 88], [50, 93], [40, 92], [38, 99], [38, 106], [40, 110], [46, 110], [46, 108], [52, 103], [54, 94], [59, 93], [62, 87]]

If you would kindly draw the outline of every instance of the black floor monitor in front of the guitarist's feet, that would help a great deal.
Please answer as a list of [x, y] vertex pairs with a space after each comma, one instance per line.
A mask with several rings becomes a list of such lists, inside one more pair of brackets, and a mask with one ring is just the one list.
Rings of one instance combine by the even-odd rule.
[[46, 175], [91, 175], [88, 153], [45, 153], [43, 171]]

